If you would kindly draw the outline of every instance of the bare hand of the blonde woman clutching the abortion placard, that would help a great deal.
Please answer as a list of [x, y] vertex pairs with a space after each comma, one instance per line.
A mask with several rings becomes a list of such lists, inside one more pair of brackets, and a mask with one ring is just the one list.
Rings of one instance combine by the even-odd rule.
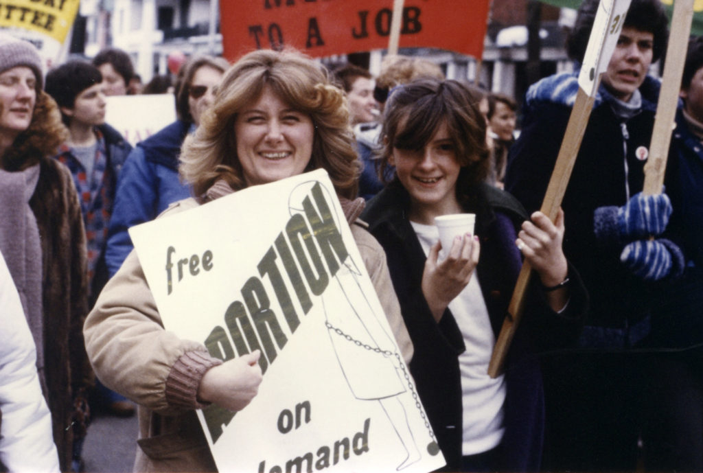
[[263, 375], [260, 350], [213, 366], [200, 380], [198, 399], [228, 410], [242, 410], [259, 392]]

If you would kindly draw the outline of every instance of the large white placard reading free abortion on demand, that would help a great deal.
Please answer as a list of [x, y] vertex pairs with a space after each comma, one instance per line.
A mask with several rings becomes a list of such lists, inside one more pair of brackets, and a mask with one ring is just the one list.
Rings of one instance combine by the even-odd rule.
[[219, 471], [444, 465], [325, 171], [129, 233], [167, 330], [219, 358], [265, 354], [249, 406], [198, 411]]

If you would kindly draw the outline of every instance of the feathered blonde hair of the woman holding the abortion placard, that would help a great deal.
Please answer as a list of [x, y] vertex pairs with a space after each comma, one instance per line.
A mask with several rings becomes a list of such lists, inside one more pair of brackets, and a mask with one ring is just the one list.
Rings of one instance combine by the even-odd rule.
[[203, 112], [195, 134], [183, 143], [181, 176], [191, 183], [195, 195], [204, 194], [218, 179], [234, 190], [247, 186], [237, 156], [234, 122], [264, 87], [312, 119], [312, 156], [305, 171], [325, 169], [338, 195], [356, 197], [361, 164], [344, 93], [333, 85], [323, 65], [290, 49], [253, 51], [225, 73], [214, 104]]

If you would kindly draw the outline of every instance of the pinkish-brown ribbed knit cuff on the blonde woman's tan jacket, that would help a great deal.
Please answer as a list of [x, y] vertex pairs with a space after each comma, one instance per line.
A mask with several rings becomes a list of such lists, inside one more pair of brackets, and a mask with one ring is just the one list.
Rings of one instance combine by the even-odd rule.
[[166, 378], [166, 401], [171, 406], [184, 409], [201, 409], [207, 403], [198, 402], [198, 386], [205, 372], [222, 361], [207, 351], [186, 351], [176, 360]]

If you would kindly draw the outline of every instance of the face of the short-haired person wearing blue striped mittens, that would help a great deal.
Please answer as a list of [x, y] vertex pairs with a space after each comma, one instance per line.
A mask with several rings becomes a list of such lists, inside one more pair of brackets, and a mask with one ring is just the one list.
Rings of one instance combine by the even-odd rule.
[[629, 101], [640, 88], [652, 64], [654, 34], [623, 27], [607, 70], [602, 76], [608, 91], [621, 101]]

